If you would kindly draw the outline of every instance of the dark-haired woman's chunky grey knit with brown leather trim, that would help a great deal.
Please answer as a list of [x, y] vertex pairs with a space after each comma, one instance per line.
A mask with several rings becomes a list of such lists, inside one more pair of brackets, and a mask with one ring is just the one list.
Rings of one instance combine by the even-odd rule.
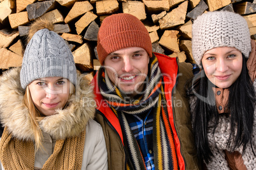
[[[256, 44], [253, 40], [250, 44], [252, 46], [252, 51], [247, 61], [247, 68], [256, 90]], [[256, 148], [256, 110], [254, 110], [252, 146], [248, 143], [245, 154], [241, 154], [243, 153], [243, 146], [239, 147], [236, 151], [231, 152], [230, 148], [227, 147], [231, 131], [231, 119], [229, 116], [222, 115], [223, 113], [230, 112], [230, 110], [226, 108], [230, 95], [229, 89], [213, 88], [213, 92], [215, 93], [218, 113], [221, 115], [219, 116], [219, 122], [215, 129], [214, 136], [212, 133], [214, 130], [213, 126], [208, 128], [208, 141], [214, 157], [209, 164], [206, 164], [207, 169], [256, 169], [256, 158], [253, 154], [253, 151], [255, 153]], [[191, 110], [194, 110], [196, 106], [196, 96], [191, 96], [189, 103]], [[222, 108], [221, 110], [220, 106]]]

